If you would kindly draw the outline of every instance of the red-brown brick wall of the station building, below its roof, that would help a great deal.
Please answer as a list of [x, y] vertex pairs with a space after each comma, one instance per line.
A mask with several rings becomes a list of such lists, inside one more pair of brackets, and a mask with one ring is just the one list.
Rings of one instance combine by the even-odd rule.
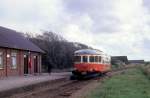
[[[3, 53], [3, 69], [0, 69], [0, 77], [6, 76], [23, 76], [24, 75], [24, 54], [28, 54], [27, 51], [14, 50], [8, 48], [0, 48], [0, 52]], [[16, 53], [17, 67], [12, 68], [11, 53]], [[39, 53], [30, 52], [31, 56], [31, 68], [28, 67], [29, 74], [34, 74], [34, 66], [37, 66], [38, 73], [41, 71], [41, 55]], [[37, 56], [37, 65], [34, 64], [34, 56]]]

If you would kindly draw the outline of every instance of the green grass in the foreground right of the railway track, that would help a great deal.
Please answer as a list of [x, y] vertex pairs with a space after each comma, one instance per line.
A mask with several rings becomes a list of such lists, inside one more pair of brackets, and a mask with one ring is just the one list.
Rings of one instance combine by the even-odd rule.
[[130, 69], [104, 80], [84, 98], [150, 98], [150, 80], [139, 69]]

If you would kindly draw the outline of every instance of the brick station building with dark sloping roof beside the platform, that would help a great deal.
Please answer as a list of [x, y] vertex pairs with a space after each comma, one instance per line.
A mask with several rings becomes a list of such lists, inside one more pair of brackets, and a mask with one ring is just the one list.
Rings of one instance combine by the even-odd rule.
[[41, 73], [42, 53], [21, 33], [0, 26], [0, 78]]

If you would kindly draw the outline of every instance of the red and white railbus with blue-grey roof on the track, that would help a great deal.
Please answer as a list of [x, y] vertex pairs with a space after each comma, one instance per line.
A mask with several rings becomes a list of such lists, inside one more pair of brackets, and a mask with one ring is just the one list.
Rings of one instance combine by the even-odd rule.
[[111, 58], [96, 49], [78, 50], [74, 53], [74, 68], [74, 71], [72, 71], [74, 76], [103, 74], [111, 69]]

